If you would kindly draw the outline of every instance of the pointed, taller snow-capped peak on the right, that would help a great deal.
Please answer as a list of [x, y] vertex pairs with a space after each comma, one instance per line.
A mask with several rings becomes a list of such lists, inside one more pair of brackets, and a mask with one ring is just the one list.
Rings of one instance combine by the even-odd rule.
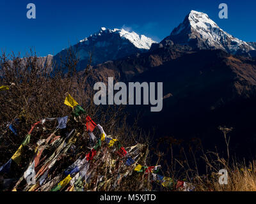
[[164, 40], [200, 49], [222, 49], [232, 54], [245, 54], [255, 50], [245, 41], [223, 31], [207, 14], [194, 10]]

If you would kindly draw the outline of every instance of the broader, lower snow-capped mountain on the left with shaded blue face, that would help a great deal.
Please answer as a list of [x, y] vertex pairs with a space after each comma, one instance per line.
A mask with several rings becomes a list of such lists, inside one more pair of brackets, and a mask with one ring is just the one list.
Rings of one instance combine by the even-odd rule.
[[[72, 46], [76, 50], [81, 69], [86, 66], [90, 52], [92, 53], [92, 65], [127, 57], [132, 54], [147, 52], [152, 43], [151, 38], [125, 29], [107, 29], [101, 27], [97, 33], [80, 40]], [[67, 55], [67, 49], [56, 55], [56, 61], [60, 55]]]

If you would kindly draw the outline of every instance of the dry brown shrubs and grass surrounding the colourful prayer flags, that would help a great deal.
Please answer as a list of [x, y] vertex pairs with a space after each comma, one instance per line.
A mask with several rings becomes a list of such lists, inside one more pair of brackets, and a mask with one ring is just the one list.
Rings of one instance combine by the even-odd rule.
[[[255, 161], [241, 163], [232, 160], [228, 150], [230, 137], [227, 136], [230, 131], [225, 128], [222, 129], [225, 138], [223, 142], [227, 145], [227, 156], [220, 156], [217, 151], [205, 152], [198, 140], [193, 140], [192, 144], [184, 145], [182, 140], [168, 137], [159, 139], [156, 149], [148, 151], [150, 133], [145, 135], [141, 132], [136, 121], [134, 121], [133, 126], [128, 126], [126, 123], [127, 113], [124, 112], [124, 107], [108, 106], [103, 108], [94, 105], [92, 87], [86, 83], [91, 74], [90, 59], [88, 66], [84, 68], [86, 71], [83, 72], [83, 75], [76, 71], [77, 62], [76, 54], [72, 50], [63, 59], [61, 66], [54, 70], [52, 70], [52, 64], [44, 66], [40, 63], [33, 52], [26, 59], [21, 59], [19, 55], [6, 56], [4, 53], [0, 56], [2, 76], [0, 85], [11, 86], [10, 91], [0, 93], [0, 136], [2, 136], [0, 139], [0, 166], [8, 161], [17, 150], [31, 128], [31, 124], [45, 117], [70, 115], [70, 108], [63, 105], [65, 94], [69, 92], [76, 98], [79, 105], [83, 106], [87, 115], [90, 115], [97, 123], [104, 125], [104, 129], [108, 131], [109, 135], [122, 140], [125, 147], [136, 143], [146, 144], [145, 155], [141, 164], [150, 166], [150, 163], [152, 164], [151, 159], [154, 157], [154, 161], [162, 166], [160, 174], [171, 177], [173, 180], [186, 180], [195, 186], [195, 191], [256, 191]], [[67, 73], [63, 73], [63, 70], [67, 70]], [[85, 117], [86, 115], [81, 116], [79, 121], [68, 120], [68, 126], [75, 126], [77, 133], [84, 135]], [[17, 129], [19, 134], [14, 136], [10, 130], [6, 130], [6, 124], [17, 118], [20, 120], [20, 126]], [[37, 129], [33, 133], [31, 143], [35, 146], [36, 141], [39, 138], [46, 138], [54, 131], [55, 126], [56, 124], [49, 124], [47, 131], [43, 131], [42, 128]], [[88, 137], [88, 135], [85, 136]], [[76, 146], [80, 147], [81, 152], [68, 160], [68, 164], [86, 153], [87, 144], [88, 140], [84, 137], [77, 140]], [[28, 148], [30, 153], [31, 149], [35, 148], [34, 146]], [[26, 157], [32, 157], [29, 150]], [[224, 159], [225, 157], [227, 159]], [[26, 165], [27, 163], [24, 162], [23, 168], [17, 171], [13, 177], [19, 178]], [[218, 182], [220, 177], [218, 171], [221, 169], [228, 171], [227, 185], [220, 185]], [[175, 189], [175, 182], [173, 182], [172, 188], [166, 189], [159, 184], [152, 184], [150, 178], [146, 178], [143, 174], [131, 176], [129, 179], [122, 180], [122, 184], [118, 187], [119, 191], [177, 190]]]

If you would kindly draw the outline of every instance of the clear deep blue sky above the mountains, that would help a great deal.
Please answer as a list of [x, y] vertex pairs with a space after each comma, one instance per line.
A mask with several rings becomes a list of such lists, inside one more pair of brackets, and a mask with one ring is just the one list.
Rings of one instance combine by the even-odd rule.
[[[36, 19], [26, 18], [28, 3], [35, 3]], [[228, 19], [218, 18], [220, 3], [228, 4]], [[256, 41], [255, 0], [1, 0], [0, 48], [22, 55], [31, 47], [41, 56], [56, 54], [100, 27], [127, 27], [161, 41], [190, 10], [207, 13], [241, 40]]]

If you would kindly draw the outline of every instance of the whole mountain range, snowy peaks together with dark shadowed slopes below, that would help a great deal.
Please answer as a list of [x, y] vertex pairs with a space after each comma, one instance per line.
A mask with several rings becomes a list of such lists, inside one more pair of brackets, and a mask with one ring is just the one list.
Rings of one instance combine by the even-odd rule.
[[[256, 43], [223, 31], [207, 14], [191, 11], [161, 42], [124, 29], [106, 29], [72, 46], [81, 75], [92, 52], [87, 83], [163, 82], [163, 110], [127, 106], [131, 123], [156, 131], [156, 138], [200, 138], [225, 145], [218, 126], [233, 127], [231, 150], [256, 154]], [[68, 48], [45, 57], [60, 62]], [[211, 138], [211, 140], [209, 140]], [[241, 154], [243, 156], [243, 154]]]

